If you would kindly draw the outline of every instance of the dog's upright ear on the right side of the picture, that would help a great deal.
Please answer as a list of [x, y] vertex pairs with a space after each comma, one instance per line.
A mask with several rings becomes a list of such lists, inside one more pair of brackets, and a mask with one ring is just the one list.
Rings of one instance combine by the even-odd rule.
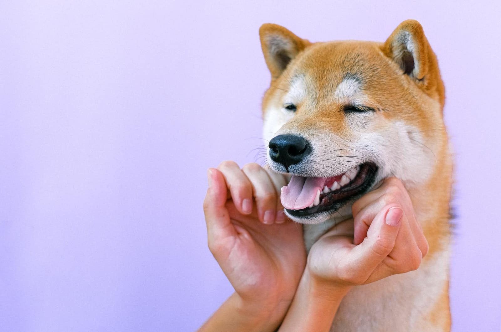
[[382, 51], [443, 107], [445, 96], [438, 62], [419, 22], [402, 22], [386, 40]]

